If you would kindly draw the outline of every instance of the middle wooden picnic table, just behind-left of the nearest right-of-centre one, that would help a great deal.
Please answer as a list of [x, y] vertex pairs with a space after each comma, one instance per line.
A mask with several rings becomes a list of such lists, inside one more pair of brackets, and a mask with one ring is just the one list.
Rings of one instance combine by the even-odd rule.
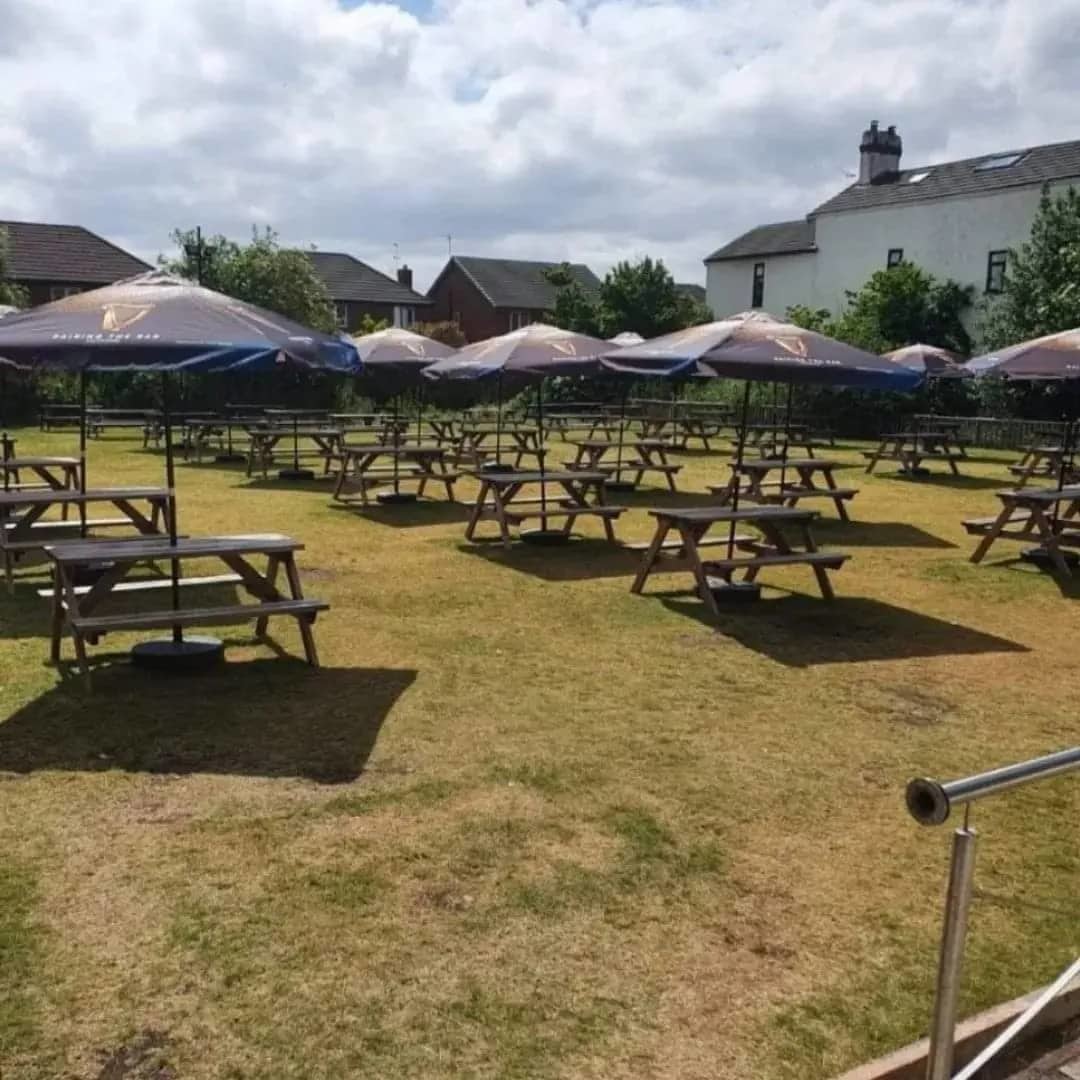
[[[608, 507], [604, 502], [605, 472], [589, 472], [584, 469], [536, 472], [477, 472], [480, 494], [473, 503], [472, 515], [465, 526], [465, 539], [472, 540], [476, 526], [482, 521], [499, 524], [499, 537], [504, 548], [511, 546], [512, 525], [521, 526], [527, 521], [540, 519], [541, 529], [546, 529], [549, 518], [565, 518], [561, 531], [569, 536], [573, 523], [579, 517], [596, 517], [604, 525], [604, 534], [616, 542], [615, 527], [625, 510], [624, 507]], [[526, 488], [541, 488], [541, 496], [526, 496]], [[555, 494], [549, 494], [554, 488]]]

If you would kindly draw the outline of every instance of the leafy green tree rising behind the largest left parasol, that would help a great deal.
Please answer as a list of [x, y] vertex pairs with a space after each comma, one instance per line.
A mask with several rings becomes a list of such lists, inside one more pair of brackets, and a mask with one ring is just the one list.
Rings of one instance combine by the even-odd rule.
[[201, 259], [193, 229], [177, 229], [172, 239], [177, 254], [159, 261], [173, 273], [191, 281], [201, 278], [207, 288], [276, 311], [313, 329], [335, 329], [334, 305], [311, 259], [306, 252], [282, 247], [272, 229], [252, 229], [246, 244], [220, 235], [203, 238]]

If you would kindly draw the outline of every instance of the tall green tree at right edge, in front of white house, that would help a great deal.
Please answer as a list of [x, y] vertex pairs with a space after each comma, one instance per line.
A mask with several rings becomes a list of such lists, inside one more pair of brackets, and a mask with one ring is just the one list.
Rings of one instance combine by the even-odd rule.
[[1043, 188], [1030, 238], [1010, 251], [1004, 288], [986, 306], [983, 343], [996, 349], [1080, 326], [1080, 193]]

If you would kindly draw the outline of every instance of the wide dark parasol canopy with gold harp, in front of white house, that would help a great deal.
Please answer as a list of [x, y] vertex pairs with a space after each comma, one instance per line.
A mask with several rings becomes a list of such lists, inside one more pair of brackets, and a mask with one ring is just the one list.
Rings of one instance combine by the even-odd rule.
[[603, 364], [621, 375], [716, 375], [867, 390], [914, 390], [922, 381], [910, 368], [758, 311], [610, 350]]

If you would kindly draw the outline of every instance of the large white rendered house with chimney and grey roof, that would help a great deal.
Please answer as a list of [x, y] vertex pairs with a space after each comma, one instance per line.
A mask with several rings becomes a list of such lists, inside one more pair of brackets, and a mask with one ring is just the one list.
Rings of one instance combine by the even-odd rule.
[[1042, 187], [1080, 187], [1080, 140], [901, 168], [894, 127], [863, 133], [859, 179], [796, 221], [758, 226], [705, 259], [708, 306], [782, 315], [843, 307], [901, 259], [937, 278], [999, 292], [1010, 247], [1030, 233]]

